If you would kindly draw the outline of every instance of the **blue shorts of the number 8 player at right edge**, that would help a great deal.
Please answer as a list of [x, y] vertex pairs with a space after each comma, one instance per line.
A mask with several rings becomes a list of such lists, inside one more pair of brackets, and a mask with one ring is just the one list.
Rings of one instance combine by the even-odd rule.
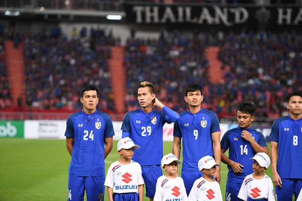
[[275, 186], [277, 200], [292, 200], [292, 195], [296, 200], [302, 188], [302, 179], [281, 178], [281, 181], [282, 188]]

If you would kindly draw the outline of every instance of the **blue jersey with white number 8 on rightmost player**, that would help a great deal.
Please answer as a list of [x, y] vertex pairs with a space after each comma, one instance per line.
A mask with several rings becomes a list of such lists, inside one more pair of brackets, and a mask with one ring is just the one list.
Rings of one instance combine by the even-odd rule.
[[302, 118], [275, 120], [269, 140], [278, 143], [277, 172], [281, 178], [302, 179]]

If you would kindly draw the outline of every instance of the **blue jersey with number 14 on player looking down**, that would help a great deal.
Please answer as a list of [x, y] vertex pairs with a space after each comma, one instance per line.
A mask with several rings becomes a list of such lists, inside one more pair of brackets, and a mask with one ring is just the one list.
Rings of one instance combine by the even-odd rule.
[[223, 135], [220, 145], [221, 149], [228, 150], [229, 148], [229, 159], [237, 163], [242, 164], [243, 172], [236, 174], [232, 167], [228, 165], [228, 180], [227, 182], [235, 181], [242, 183], [244, 178], [253, 173], [253, 158], [256, 152], [254, 151], [250, 142], [246, 141], [241, 137], [243, 130], [251, 133], [252, 138], [262, 147], [266, 147], [265, 139], [262, 133], [255, 129], [242, 129], [240, 127], [226, 131]]

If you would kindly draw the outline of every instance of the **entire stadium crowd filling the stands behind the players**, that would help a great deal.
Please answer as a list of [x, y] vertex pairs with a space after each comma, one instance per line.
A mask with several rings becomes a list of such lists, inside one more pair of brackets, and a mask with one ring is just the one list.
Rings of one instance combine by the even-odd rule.
[[[0, 29], [1, 31], [2, 29]], [[0, 107], [12, 105], [0, 35]], [[90, 33], [88, 33], [90, 32]], [[24, 35], [26, 105], [38, 109], [78, 110], [79, 87], [96, 84], [101, 88], [99, 110], [115, 111], [108, 59], [110, 46], [120, 45], [112, 33], [97, 28], [73, 30], [67, 39], [59, 28], [48, 35]], [[205, 49], [218, 45], [223, 79], [209, 80], [210, 63]], [[125, 46], [125, 112], [137, 108], [137, 84], [156, 84], [157, 95], [178, 113], [187, 109], [183, 86], [202, 85], [203, 108], [223, 116], [236, 113], [243, 100], [253, 101], [259, 117], [286, 115], [283, 96], [301, 90], [299, 71], [302, 42], [294, 33], [272, 34], [242, 31], [161, 33], [159, 39], [130, 38]]]

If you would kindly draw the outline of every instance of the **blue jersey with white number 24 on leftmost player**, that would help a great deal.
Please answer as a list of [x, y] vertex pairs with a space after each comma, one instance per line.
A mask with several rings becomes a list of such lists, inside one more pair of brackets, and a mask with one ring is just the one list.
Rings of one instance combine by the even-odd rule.
[[104, 139], [114, 136], [109, 115], [74, 113], [67, 119], [65, 136], [74, 141], [69, 175], [105, 177]]

